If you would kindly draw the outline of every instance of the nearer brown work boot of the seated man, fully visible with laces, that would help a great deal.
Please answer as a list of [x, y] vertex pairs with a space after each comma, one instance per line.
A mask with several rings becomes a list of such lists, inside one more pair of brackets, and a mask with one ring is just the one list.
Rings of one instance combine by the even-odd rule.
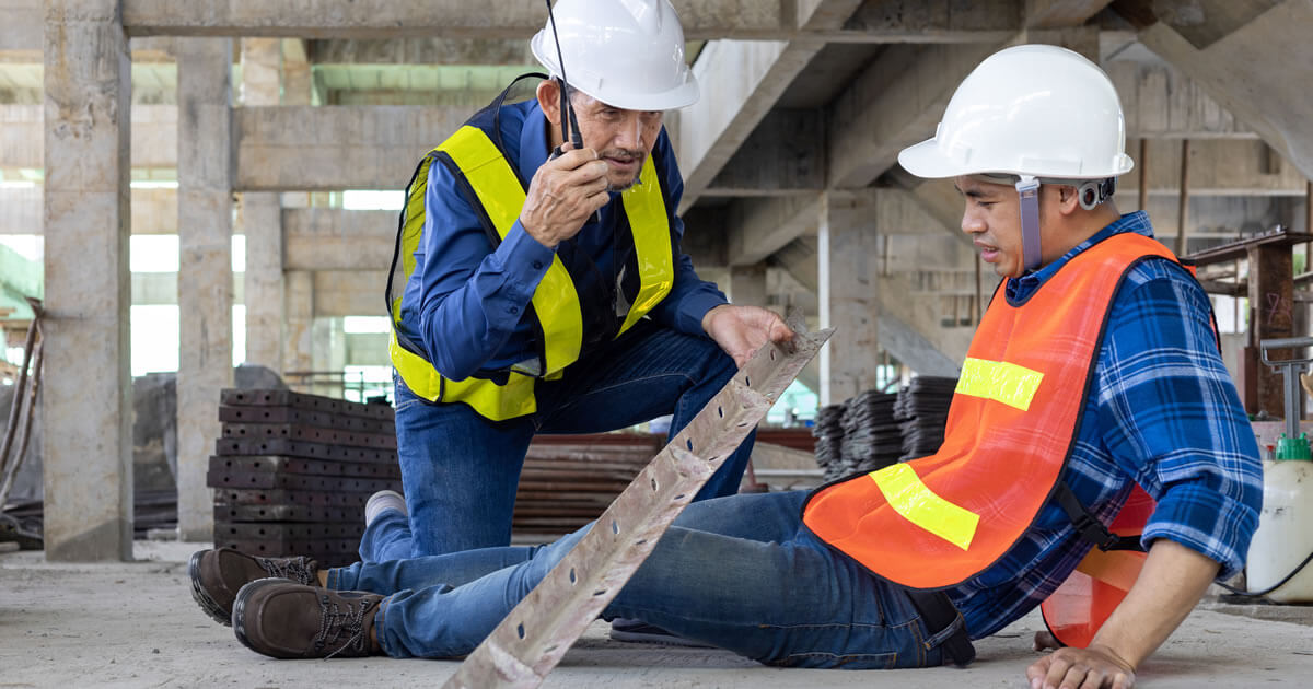
[[232, 631], [247, 648], [270, 658], [379, 655], [370, 633], [382, 600], [378, 593], [260, 579], [238, 592]]

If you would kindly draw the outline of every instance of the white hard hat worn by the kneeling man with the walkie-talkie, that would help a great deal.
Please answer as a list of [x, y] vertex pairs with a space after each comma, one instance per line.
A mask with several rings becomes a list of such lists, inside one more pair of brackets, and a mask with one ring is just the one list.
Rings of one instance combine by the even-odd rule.
[[[625, 110], [697, 101], [697, 79], [684, 64], [684, 29], [670, 0], [558, 0], [553, 13], [571, 88]], [[561, 76], [550, 21], [529, 47]]]

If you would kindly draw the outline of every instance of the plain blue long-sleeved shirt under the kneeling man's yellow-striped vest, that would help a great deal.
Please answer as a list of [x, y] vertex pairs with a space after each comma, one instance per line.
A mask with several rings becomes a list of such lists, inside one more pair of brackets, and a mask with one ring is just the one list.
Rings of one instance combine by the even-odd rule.
[[[503, 106], [499, 130], [507, 161], [528, 185], [550, 152], [548, 121], [538, 102]], [[684, 180], [664, 127], [651, 155], [656, 169], [666, 176], [667, 207], [679, 207]], [[452, 381], [471, 375], [496, 378], [512, 365], [537, 357], [537, 325], [527, 314], [554, 251], [533, 239], [519, 219], [494, 249], [454, 176], [439, 161], [429, 167], [424, 203], [424, 235], [402, 298], [402, 333], [423, 346], [433, 367]], [[620, 194], [612, 193], [600, 220], [590, 219], [567, 240], [574, 251], [590, 256], [603, 274], [613, 274], [612, 236], [617, 223], [622, 223], [622, 214]], [[674, 232], [679, 238], [684, 234], [679, 218], [674, 220]], [[723, 303], [725, 294], [700, 280], [693, 261], [679, 252], [675, 285], [649, 316], [676, 331], [705, 336], [702, 316]]]

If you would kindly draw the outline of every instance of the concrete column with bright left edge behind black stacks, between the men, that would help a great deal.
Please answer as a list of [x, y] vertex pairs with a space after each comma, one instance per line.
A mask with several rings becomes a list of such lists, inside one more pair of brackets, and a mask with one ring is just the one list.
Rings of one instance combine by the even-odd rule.
[[872, 192], [826, 192], [818, 218], [821, 327], [835, 333], [821, 350], [821, 404], [876, 386], [880, 245]]

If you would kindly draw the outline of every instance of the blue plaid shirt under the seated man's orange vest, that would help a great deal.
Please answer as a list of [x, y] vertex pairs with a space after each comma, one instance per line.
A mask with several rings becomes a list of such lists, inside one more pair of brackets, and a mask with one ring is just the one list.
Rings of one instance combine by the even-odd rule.
[[[1012, 281], [1006, 297], [1033, 293], [1073, 256], [1120, 232], [1153, 236], [1153, 227], [1144, 213], [1123, 215], [1057, 261]], [[1067, 482], [1104, 524], [1132, 482], [1138, 483], [1158, 503], [1145, 526], [1145, 547], [1169, 538], [1221, 563], [1224, 579], [1245, 564], [1258, 528], [1263, 470], [1211, 324], [1208, 295], [1184, 270], [1163, 260], [1130, 269], [1109, 308]], [[948, 593], [972, 638], [987, 637], [1039, 605], [1088, 550], [1050, 501], [999, 562]]]

